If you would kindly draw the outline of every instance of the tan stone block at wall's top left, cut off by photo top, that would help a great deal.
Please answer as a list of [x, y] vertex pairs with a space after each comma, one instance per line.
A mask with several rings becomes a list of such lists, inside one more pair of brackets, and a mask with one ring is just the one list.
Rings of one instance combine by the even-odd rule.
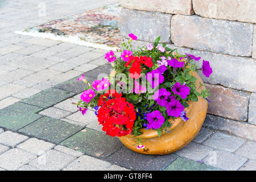
[[163, 0], [163, 1], [154, 1], [154, 0], [120, 0], [122, 7], [135, 10], [145, 10], [145, 11], [159, 11], [162, 13], [169, 14], [183, 14], [183, 15], [192, 15], [193, 7], [192, 1], [187, 0]]

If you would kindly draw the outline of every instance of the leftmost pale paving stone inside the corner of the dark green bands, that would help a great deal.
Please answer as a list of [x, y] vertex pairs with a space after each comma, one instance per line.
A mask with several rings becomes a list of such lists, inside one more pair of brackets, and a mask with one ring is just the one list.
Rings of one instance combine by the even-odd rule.
[[62, 119], [67, 117], [68, 115], [71, 115], [72, 113], [66, 110], [62, 110], [56, 107], [49, 107], [46, 110], [40, 111], [41, 115], [48, 116], [50, 118], [55, 118], [55, 119]]

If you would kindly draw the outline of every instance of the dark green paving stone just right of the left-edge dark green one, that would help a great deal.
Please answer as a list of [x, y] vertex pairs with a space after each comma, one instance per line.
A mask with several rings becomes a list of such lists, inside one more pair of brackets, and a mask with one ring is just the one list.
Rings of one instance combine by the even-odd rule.
[[81, 129], [81, 126], [72, 125], [71, 123], [53, 118], [43, 117], [30, 125], [23, 127], [19, 132], [32, 137], [48, 140], [52, 143], [60, 143]]

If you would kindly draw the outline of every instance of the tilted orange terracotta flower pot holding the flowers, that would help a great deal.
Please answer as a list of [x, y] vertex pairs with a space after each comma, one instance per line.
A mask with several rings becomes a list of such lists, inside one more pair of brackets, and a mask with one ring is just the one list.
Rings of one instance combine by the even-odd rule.
[[[199, 82], [203, 83], [203, 81], [197, 73], [193, 73], [193, 76], [197, 78], [196, 85], [198, 88]], [[204, 86], [202, 89], [205, 89]], [[141, 137], [142, 144], [145, 146], [143, 149], [137, 149], [137, 146], [134, 145], [137, 143], [137, 139], [133, 135], [118, 138], [127, 148], [141, 154], [163, 155], [175, 152], [196, 137], [207, 114], [207, 101], [198, 97], [198, 101], [189, 102], [189, 107], [185, 110], [189, 118], [188, 121], [184, 122], [181, 118], [176, 118], [174, 121], [170, 119], [169, 122], [172, 124], [170, 132], [164, 133], [163, 131], [161, 137], [158, 137], [155, 130], [141, 129], [142, 134], [137, 137]]]

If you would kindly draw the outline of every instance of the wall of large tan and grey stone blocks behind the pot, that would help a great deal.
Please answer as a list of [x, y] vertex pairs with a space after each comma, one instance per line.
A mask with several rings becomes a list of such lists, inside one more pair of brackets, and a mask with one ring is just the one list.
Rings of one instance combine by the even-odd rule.
[[[119, 0], [121, 35], [161, 41], [210, 62], [205, 126], [256, 140], [256, 1]], [[216, 122], [214, 122], [216, 121]], [[238, 129], [241, 128], [241, 130]], [[249, 135], [254, 131], [253, 135]], [[245, 134], [245, 133], [248, 134]]]

